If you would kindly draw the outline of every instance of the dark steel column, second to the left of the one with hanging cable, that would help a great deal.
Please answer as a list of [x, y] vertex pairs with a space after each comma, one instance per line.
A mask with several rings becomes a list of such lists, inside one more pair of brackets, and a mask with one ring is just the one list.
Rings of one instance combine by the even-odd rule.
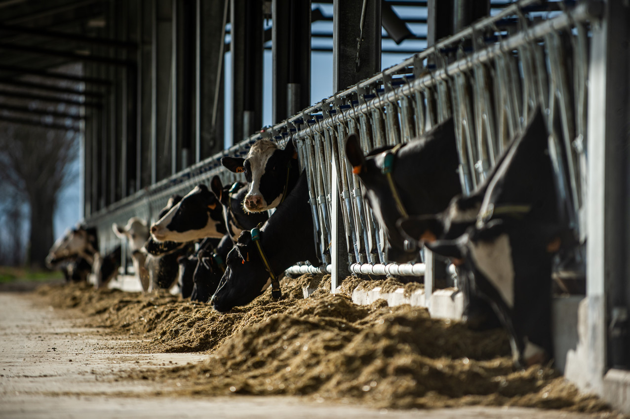
[[231, 0], [232, 144], [263, 124], [263, 4]]

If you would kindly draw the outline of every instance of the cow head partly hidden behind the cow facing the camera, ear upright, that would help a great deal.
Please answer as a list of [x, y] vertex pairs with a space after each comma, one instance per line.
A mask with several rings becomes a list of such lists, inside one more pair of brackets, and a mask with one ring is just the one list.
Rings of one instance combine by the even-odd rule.
[[244, 209], [245, 196], [248, 185], [241, 182], [223, 186], [221, 178], [214, 176], [210, 181], [212, 192], [219, 198], [223, 207], [223, 221], [227, 227], [227, 234], [236, 243], [243, 230], [251, 230], [269, 218], [268, 212], [249, 212]]

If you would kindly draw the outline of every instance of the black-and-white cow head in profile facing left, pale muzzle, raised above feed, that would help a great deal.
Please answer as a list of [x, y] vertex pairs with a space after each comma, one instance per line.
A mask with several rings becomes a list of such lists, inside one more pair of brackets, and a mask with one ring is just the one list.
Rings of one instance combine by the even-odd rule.
[[186, 242], [226, 233], [219, 200], [205, 185], [198, 185], [151, 226], [156, 241]]

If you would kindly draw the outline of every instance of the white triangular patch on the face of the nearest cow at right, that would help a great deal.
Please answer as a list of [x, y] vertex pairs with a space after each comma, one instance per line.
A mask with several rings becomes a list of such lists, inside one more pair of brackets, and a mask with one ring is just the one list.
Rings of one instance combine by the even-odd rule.
[[514, 306], [514, 265], [512, 247], [507, 234], [491, 242], [469, 241], [469, 250], [476, 267], [498, 290], [508, 307]]

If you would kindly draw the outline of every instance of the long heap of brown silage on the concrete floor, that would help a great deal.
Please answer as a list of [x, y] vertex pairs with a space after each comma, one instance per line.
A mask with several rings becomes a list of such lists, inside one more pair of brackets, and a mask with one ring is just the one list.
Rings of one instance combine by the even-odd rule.
[[212, 353], [197, 365], [132, 375], [176, 382], [178, 394], [290, 394], [381, 408], [607, 409], [599, 399], [578, 394], [549, 367], [513, 369], [503, 331], [471, 331], [431, 319], [420, 307], [387, 307], [382, 300], [357, 306], [345, 295], [329, 294], [329, 277], [302, 299], [302, 286], [309, 282], [306, 275], [284, 280], [282, 301], [273, 302], [265, 292], [227, 314], [157, 293], [120, 293], [104, 311], [99, 296], [117, 292], [85, 289], [93, 296], [71, 300], [79, 308], [84, 302], [97, 304], [84, 307], [93, 311], [93, 325], [105, 322], [118, 333], [151, 338], [146, 350]]

